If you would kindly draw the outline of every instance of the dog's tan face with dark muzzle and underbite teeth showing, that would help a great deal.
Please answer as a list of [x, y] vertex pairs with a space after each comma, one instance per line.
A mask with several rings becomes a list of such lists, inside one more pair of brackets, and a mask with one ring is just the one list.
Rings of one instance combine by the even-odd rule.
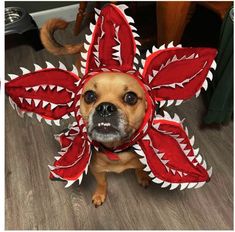
[[80, 110], [92, 140], [107, 147], [127, 142], [147, 108], [140, 84], [128, 74], [100, 73], [84, 86]]

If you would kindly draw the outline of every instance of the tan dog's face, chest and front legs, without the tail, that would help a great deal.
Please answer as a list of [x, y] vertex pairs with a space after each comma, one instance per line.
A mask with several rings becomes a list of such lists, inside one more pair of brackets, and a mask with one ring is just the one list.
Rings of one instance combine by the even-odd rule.
[[[139, 129], [146, 108], [145, 93], [139, 83], [128, 74], [112, 72], [98, 74], [87, 82], [80, 109], [91, 139], [112, 149], [126, 143]], [[107, 172], [120, 173], [133, 168], [142, 186], [150, 183], [135, 152], [120, 152], [118, 156], [115, 161], [102, 152], [95, 152], [92, 157], [90, 168], [98, 184], [92, 197], [95, 206], [105, 200]]]

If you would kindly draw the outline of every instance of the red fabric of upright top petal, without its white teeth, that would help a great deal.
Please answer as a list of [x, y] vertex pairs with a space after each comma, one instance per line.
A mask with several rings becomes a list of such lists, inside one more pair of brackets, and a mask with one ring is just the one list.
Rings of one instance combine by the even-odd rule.
[[[117, 31], [117, 37], [115, 31]], [[121, 63], [113, 59], [114, 53], [118, 51], [113, 47], [118, 45], [120, 45]], [[98, 46], [98, 51], [96, 46]], [[86, 71], [95, 71], [102, 67], [128, 71], [133, 67], [135, 50], [135, 40], [125, 16], [118, 7], [109, 4], [100, 12], [92, 33]], [[97, 60], [100, 62], [99, 66], [95, 62], [94, 52], [98, 52]]]

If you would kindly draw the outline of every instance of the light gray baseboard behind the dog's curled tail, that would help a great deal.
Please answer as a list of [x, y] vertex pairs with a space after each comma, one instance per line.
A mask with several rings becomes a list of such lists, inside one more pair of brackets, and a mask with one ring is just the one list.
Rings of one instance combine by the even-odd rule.
[[42, 24], [51, 18], [61, 18], [67, 22], [75, 21], [78, 12], [79, 4], [58, 7], [49, 10], [43, 10], [38, 12], [33, 12], [30, 15], [36, 22], [38, 28], [41, 28]]

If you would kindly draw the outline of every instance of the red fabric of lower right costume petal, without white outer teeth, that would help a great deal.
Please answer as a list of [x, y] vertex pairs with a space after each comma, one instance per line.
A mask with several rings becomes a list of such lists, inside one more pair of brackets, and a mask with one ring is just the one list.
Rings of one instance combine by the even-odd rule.
[[[159, 123], [158, 129], [151, 128], [148, 136], [139, 142], [154, 176], [169, 183], [208, 181], [208, 172], [197, 162], [180, 123], [164, 119], [156, 120], [156, 123]], [[182, 141], [177, 141], [176, 135]], [[180, 143], [185, 147], [182, 148]], [[189, 152], [187, 155], [185, 150]], [[192, 161], [189, 160], [191, 157], [194, 157]]]

